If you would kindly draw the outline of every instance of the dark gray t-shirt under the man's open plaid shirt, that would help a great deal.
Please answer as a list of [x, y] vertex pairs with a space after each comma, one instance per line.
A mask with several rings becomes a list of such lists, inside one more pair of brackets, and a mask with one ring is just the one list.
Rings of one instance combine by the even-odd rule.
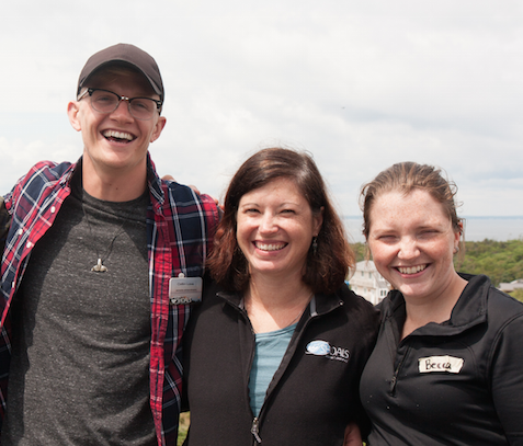
[[149, 198], [102, 202], [77, 176], [13, 299], [2, 446], [152, 446]]

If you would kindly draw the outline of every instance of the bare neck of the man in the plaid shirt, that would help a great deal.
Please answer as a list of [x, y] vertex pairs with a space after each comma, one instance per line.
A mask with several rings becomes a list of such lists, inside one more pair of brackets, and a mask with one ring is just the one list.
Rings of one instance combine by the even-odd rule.
[[146, 165], [130, 172], [116, 169], [109, 172], [94, 169], [88, 159], [83, 159], [82, 164], [83, 190], [98, 199], [130, 202], [141, 196], [147, 188]]

